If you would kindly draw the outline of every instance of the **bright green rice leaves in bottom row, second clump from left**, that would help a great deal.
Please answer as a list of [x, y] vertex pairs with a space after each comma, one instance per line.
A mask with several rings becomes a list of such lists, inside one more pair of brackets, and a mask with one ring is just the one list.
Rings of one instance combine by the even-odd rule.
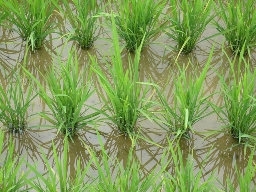
[[[91, 191], [93, 188], [91, 183], [84, 182], [87, 178], [86, 174], [88, 173], [88, 169], [92, 163], [92, 159], [87, 163], [86, 167], [83, 168], [80, 166], [80, 158], [78, 160], [77, 168], [76, 168], [76, 176], [75, 178], [71, 178], [68, 175], [68, 164], [67, 164], [67, 156], [68, 156], [68, 134], [65, 136], [64, 140], [64, 154], [61, 159], [58, 157], [56, 152], [56, 147], [54, 142], [52, 141], [52, 149], [54, 154], [54, 162], [56, 164], [56, 171], [50, 166], [50, 162], [47, 160], [42, 148], [42, 156], [47, 167], [46, 174], [40, 174], [36, 169], [36, 164], [34, 166], [30, 165], [26, 162], [27, 166], [36, 174], [36, 180], [32, 182], [24, 177], [26, 182], [37, 192], [84, 192]], [[46, 175], [46, 176], [45, 176]]]

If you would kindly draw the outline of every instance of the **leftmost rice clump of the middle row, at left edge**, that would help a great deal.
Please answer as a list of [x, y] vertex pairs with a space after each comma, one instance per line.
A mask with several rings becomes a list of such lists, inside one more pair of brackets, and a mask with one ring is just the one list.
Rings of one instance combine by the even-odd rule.
[[[2, 69], [5, 72], [4, 68]], [[5, 90], [3, 86], [0, 86], [0, 122], [9, 130], [24, 131], [30, 121], [27, 118], [34, 115], [26, 116], [28, 107], [37, 94], [33, 96], [30, 86], [25, 97], [19, 66], [18, 72], [14, 72], [12, 68], [11, 77], [8, 77], [7, 74], [6, 76], [9, 81], [8, 87]], [[14, 82], [14, 78], [16, 78], [16, 82]]]

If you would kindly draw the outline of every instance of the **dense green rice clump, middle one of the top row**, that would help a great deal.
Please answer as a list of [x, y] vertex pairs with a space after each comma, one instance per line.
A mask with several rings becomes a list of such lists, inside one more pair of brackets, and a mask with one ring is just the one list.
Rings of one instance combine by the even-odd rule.
[[143, 49], [164, 28], [165, 22], [160, 15], [166, 0], [118, 0], [114, 3], [117, 7], [116, 30], [124, 38], [129, 51], [136, 52], [140, 44]]

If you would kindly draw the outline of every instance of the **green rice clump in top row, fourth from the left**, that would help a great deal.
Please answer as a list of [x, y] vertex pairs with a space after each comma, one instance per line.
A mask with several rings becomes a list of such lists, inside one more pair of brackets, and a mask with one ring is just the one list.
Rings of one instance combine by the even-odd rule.
[[188, 54], [194, 49], [206, 25], [216, 16], [210, 14], [213, 8], [212, 0], [181, 0], [181, 3], [170, 0], [170, 3], [172, 16], [167, 19], [171, 25], [168, 27], [170, 32], [167, 31], [166, 34], [177, 42], [177, 50], [182, 49]]

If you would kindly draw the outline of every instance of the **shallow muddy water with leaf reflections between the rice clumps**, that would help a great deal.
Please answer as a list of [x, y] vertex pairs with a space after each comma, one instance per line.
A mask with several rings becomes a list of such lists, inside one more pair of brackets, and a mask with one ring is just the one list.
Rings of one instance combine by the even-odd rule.
[[[70, 1], [69, 3], [70, 7], [73, 6], [73, 9], [75, 10], [72, 2]], [[99, 4], [99, 1], [97, 1], [97, 3]], [[108, 2], [102, 2], [101, 6], [104, 6], [106, 3]], [[58, 2], [58, 4], [61, 7], [64, 7], [62, 2]], [[166, 8], [169, 6], [170, 2], [166, 4]], [[108, 6], [106, 6], [105, 11], [110, 13], [111, 7], [116, 11], [116, 5], [113, 2], [110, 2]], [[170, 8], [167, 8], [164, 11], [167, 13], [170, 11]], [[220, 18], [217, 16], [214, 20], [218, 21]], [[84, 70], [87, 70], [85, 72], [85, 76], [88, 77], [90, 75], [87, 66], [90, 68], [92, 65], [90, 58], [91, 55], [97, 59], [98, 66], [106, 75], [108, 80], [113, 82], [112, 74], [106, 64], [106, 61], [108, 61], [109, 64], [112, 63], [110, 60], [110, 50], [113, 50], [112, 29], [107, 28], [106, 26], [100, 26], [96, 30], [96, 34], [99, 34], [99, 37], [93, 42], [91, 48], [84, 50], [75, 40], [68, 40], [66, 42], [66, 38], [60, 38], [60, 34], [58, 33], [68, 33], [66, 28], [71, 28], [68, 20], [65, 20], [57, 12], [54, 12], [54, 14], [50, 16], [50, 22], [52, 21], [60, 23], [57, 25], [60, 28], [56, 30], [56, 33], [48, 35], [43, 46], [38, 50], [34, 50], [34, 52], [32, 52], [31, 48], [26, 52], [26, 40], [21, 38], [17, 32], [10, 30], [6, 26], [0, 26], [0, 64], [2, 65], [2, 68], [0, 69], [0, 86], [2, 86], [4, 90], [8, 87], [10, 83], [9, 79], [13, 76], [12, 69], [17, 71], [17, 63], [22, 64], [24, 62], [24, 58], [27, 57], [25, 66], [26, 70], [28, 70], [44, 87], [46, 93], [49, 94], [49, 97], [52, 97], [49, 89], [47, 88], [45, 79], [47, 70], [52, 67], [53, 63], [56, 63], [57, 68], [59, 67], [57, 62], [58, 56], [61, 62], [66, 63], [69, 52], [73, 47], [76, 52], [73, 52], [72, 60], [77, 58], [79, 71], [83, 72]], [[97, 22], [104, 23], [104, 18], [99, 17]], [[169, 22], [167, 22], [167, 24], [168, 23]], [[6, 24], [8, 24], [8, 22], [6, 22]], [[15, 27], [16, 26], [14, 26], [14, 28]], [[204, 30], [200, 36], [199, 41], [216, 33], [218, 33], [218, 31], [212, 25], [208, 24], [206, 26], [206, 30]], [[198, 78], [204, 70], [204, 66], [208, 61], [209, 54], [215, 42], [212, 58], [210, 60], [210, 67], [208, 68], [203, 82], [203, 95], [209, 96], [214, 92], [219, 92], [210, 96], [209, 100], [216, 104], [216, 106], [222, 106], [224, 104], [224, 99], [220, 94], [220, 78], [216, 74], [215, 70], [219, 73], [223, 72], [223, 78], [227, 81], [228, 77], [232, 76], [232, 73], [230, 72], [229, 59], [232, 61], [236, 59], [234, 65], [234, 71], [236, 74], [239, 74], [240, 71], [242, 73], [246, 70], [246, 66], [242, 62], [240, 71], [238, 71], [238, 57], [235, 58], [234, 52], [230, 50], [228, 43], [223, 41], [223, 38], [223, 35], [219, 35], [208, 40], [204, 40], [196, 44], [192, 52], [188, 54], [181, 52], [180, 54], [178, 50], [165, 49], [165, 46], [168, 46], [171, 43], [174, 47], [177, 47], [177, 44], [164, 32], [160, 32], [150, 40], [152, 44], [148, 44], [140, 53], [138, 81], [148, 82], [148, 80], [150, 80], [150, 82], [157, 84], [160, 90], [164, 90], [163, 94], [167, 98], [168, 104], [173, 107], [175, 100], [174, 76], [181, 74], [178, 66], [181, 68], [184, 66], [186, 68], [184, 73], [187, 79], [190, 75], [192, 78]], [[224, 44], [222, 44], [223, 42]], [[120, 39], [120, 47], [124, 46], [124, 44], [125, 41]], [[226, 55], [224, 54], [223, 49], [225, 50]], [[129, 53], [126, 48], [122, 49], [121, 59], [124, 71], [129, 68], [129, 54], [132, 60], [136, 56], [133, 52]], [[176, 61], [175, 58], [177, 58], [177, 56], [178, 59]], [[256, 68], [255, 50], [251, 49], [250, 56], [247, 54], [244, 56], [244, 59], [248, 62], [249, 70], [253, 73]], [[20, 68], [21, 79], [23, 78], [22, 74], [22, 69]], [[56, 74], [56, 77], [61, 77], [61, 81], [62, 78], [65, 78], [64, 76], [60, 76], [60, 74]], [[15, 81], [16, 80], [14, 80], [14, 82]], [[108, 95], [102, 87], [102, 84], [100, 84], [98, 75], [95, 72], [92, 72], [90, 82], [92, 84], [92, 89], [95, 88], [97, 91], [93, 92], [93, 94], [86, 100], [85, 104], [93, 106], [98, 110], [102, 110], [104, 102], [101, 95], [105, 96], [106, 99]], [[22, 86], [24, 96], [28, 94], [31, 86], [33, 86], [32, 96], [36, 95], [35, 89], [38, 90], [38, 84], [32, 84], [33, 81], [31, 83], [28, 76], [25, 76], [24, 79], [22, 79], [22, 83], [24, 83]], [[142, 91], [145, 86], [146, 85], [142, 86]], [[254, 98], [256, 95], [255, 93], [256, 86], [254, 86]], [[150, 90], [146, 97], [148, 98], [151, 94], [153, 95], [152, 99], [158, 98], [158, 94], [154, 89]], [[85, 108], [86, 115], [95, 112], [92, 108], [88, 108], [87, 106], [85, 106]], [[154, 111], [160, 109], [160, 106], [154, 106], [153, 108]], [[207, 112], [212, 111], [213, 109], [211, 106], [207, 108]], [[17, 130], [10, 131], [4, 126], [4, 124], [0, 123], [2, 129], [4, 129], [4, 142], [2, 146], [1, 160], [2, 157], [5, 157], [8, 154], [8, 144], [10, 138], [12, 138], [12, 141], [14, 141], [14, 156], [18, 155], [16, 164], [18, 164], [22, 158], [32, 166], [34, 165], [34, 162], [39, 162], [36, 168], [38, 172], [44, 173], [46, 172], [47, 167], [43, 160], [43, 152], [51, 168], [53, 170], [56, 169], [52, 142], [54, 142], [58, 158], [63, 158], [65, 135], [61, 132], [58, 132], [57, 134], [58, 128], [53, 128], [54, 125], [51, 122], [44, 118], [40, 118], [40, 115], [37, 113], [42, 112], [46, 112], [49, 116], [52, 115], [49, 106], [44, 102], [44, 100], [42, 100], [42, 98], [40, 98], [39, 95], [36, 95], [26, 113], [27, 116], [30, 116], [32, 113], [36, 115], [27, 119], [29, 122], [28, 128], [24, 132], [18, 132]], [[161, 115], [158, 116], [161, 118]], [[52, 118], [54, 119], [54, 116], [52, 116]], [[104, 118], [104, 116], [101, 114], [99, 115], [99, 119], [100, 118]], [[110, 120], [104, 120], [101, 122], [97, 122], [96, 120], [96, 123], [102, 144], [106, 154], [109, 156], [108, 166], [111, 178], [114, 180], [117, 175], [116, 166], [118, 162], [125, 167], [128, 162], [128, 158], [130, 158], [129, 151], [132, 146], [132, 140], [129, 138], [128, 134], [120, 133], [117, 126], [114, 123], [111, 123]], [[167, 126], [162, 126], [169, 130]], [[206, 182], [209, 176], [213, 174], [219, 181], [215, 181], [214, 185], [222, 188], [221, 184], [225, 187], [227, 186], [226, 178], [228, 176], [234, 188], [237, 188], [237, 191], [239, 191], [239, 182], [236, 175], [235, 164], [237, 169], [244, 173], [248, 166], [248, 160], [252, 153], [252, 148], [247, 147], [245, 152], [245, 146], [239, 144], [238, 138], [233, 138], [226, 130], [223, 130], [222, 132], [214, 132], [216, 130], [220, 130], [222, 126], [225, 126], [225, 124], [221, 122], [220, 117], [218, 117], [216, 113], [212, 113], [196, 122], [196, 124], [193, 125], [194, 133], [192, 133], [192, 131], [188, 133], [190, 138], [180, 138], [178, 145], [180, 146], [184, 164], [186, 164], [190, 159], [190, 154], [193, 151], [193, 169], [195, 174], [199, 172], [207, 156], [206, 161], [203, 164], [200, 183]], [[132, 154], [132, 160], [138, 160], [140, 162], [139, 172], [142, 174], [142, 178], [146, 178], [148, 173], [152, 172], [154, 168], [156, 168], [156, 172], [161, 170], [161, 158], [165, 153], [165, 149], [169, 147], [168, 138], [170, 141], [174, 140], [175, 134], [172, 134], [172, 131], [168, 132], [164, 130], [156, 122], [150, 121], [146, 118], [139, 119], [136, 122], [136, 125], [134, 126], [134, 133], [136, 134], [138, 132], [140, 136], [146, 139], [137, 139], [133, 148], [134, 153]], [[69, 139], [67, 154], [68, 175], [71, 176], [71, 178], [76, 177], [78, 161], [80, 162], [80, 166], [84, 168], [92, 158], [85, 145], [90, 149], [94, 149], [96, 158], [98, 158], [98, 162], [103, 167], [102, 147], [94, 125], [87, 124], [86, 126], [83, 126], [78, 132], [76, 132], [72, 139], [73, 142]], [[175, 140], [173, 147], [176, 145], [177, 141]], [[171, 158], [171, 154], [166, 157], [166, 159], [169, 158]], [[253, 156], [252, 166], [255, 165], [255, 162], [256, 153], [254, 153]], [[0, 162], [0, 166], [3, 166], [3, 162]], [[29, 167], [23, 162], [20, 170], [21, 172], [23, 170], [27, 171], [29, 170]], [[175, 174], [175, 165], [173, 160], [165, 170], [170, 174]], [[35, 174], [31, 173], [29, 177], [33, 176], [35, 176]], [[98, 168], [95, 163], [92, 163], [89, 167], [88, 173], [86, 174], [86, 180], [92, 181], [93, 178], [96, 178], [97, 180], [97, 177]], [[157, 182], [160, 182], [160, 178]], [[252, 187], [256, 185], [255, 174], [251, 181], [251, 185]], [[167, 191], [165, 190], [163, 183], [161, 190]]]

